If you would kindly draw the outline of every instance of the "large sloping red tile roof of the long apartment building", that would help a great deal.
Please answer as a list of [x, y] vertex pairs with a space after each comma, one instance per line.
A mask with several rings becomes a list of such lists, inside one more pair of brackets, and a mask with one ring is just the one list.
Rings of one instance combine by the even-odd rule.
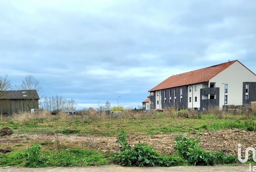
[[164, 80], [163, 82], [155, 86], [154, 88], [150, 89], [149, 91], [168, 89], [172, 87], [179, 87], [179, 86], [190, 85], [194, 83], [208, 82], [211, 78], [215, 77], [218, 73], [225, 70], [236, 61], [238, 60], [233, 60], [230, 62], [218, 64], [215, 66], [210, 66], [207, 68], [201, 68], [201, 69], [193, 70], [190, 72], [170, 76], [169, 78], [167, 78], [166, 80]]

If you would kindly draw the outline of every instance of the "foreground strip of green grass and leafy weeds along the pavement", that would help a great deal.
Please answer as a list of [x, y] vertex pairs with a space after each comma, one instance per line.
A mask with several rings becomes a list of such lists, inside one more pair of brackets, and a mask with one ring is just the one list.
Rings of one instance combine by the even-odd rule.
[[184, 135], [176, 138], [176, 153], [165, 155], [158, 153], [153, 146], [135, 144], [132, 148], [126, 139], [126, 132], [121, 130], [117, 143], [121, 149], [109, 154], [94, 149], [57, 149], [41, 150], [41, 145], [33, 145], [23, 151], [0, 154], [0, 166], [18, 165], [24, 167], [66, 167], [103, 164], [120, 164], [124, 166], [177, 166], [177, 165], [213, 165], [234, 164], [237, 158], [223, 152], [204, 151], [198, 146], [199, 139], [188, 139]]

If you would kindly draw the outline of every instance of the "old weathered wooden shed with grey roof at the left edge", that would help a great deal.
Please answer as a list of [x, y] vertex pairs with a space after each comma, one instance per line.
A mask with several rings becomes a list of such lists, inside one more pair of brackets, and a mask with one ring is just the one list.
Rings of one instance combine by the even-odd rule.
[[12, 115], [39, 109], [39, 96], [36, 90], [3, 91], [0, 97], [0, 112]]

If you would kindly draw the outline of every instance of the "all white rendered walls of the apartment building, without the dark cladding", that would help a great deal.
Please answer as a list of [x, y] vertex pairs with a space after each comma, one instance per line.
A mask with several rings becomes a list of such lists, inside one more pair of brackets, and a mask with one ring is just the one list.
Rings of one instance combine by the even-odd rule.
[[[223, 105], [243, 105], [243, 82], [256, 82], [256, 75], [252, 73], [248, 68], [242, 65], [239, 61], [235, 61], [229, 67], [212, 77], [209, 82], [197, 83], [186, 85], [187, 90], [187, 108], [203, 108], [200, 107], [200, 100], [203, 99], [217, 99], [219, 97], [219, 107], [222, 109]], [[225, 84], [227, 84], [227, 93], [225, 93]], [[176, 88], [180, 88], [178, 86]], [[219, 96], [216, 94], [208, 94], [208, 95], [200, 95], [200, 89], [215, 87], [219, 88]], [[184, 88], [184, 87], [183, 87]], [[173, 87], [173, 89], [175, 89]], [[249, 88], [250, 89], [250, 88]], [[252, 88], [256, 89], [256, 88]], [[191, 91], [190, 91], [191, 90]], [[204, 89], [212, 90], [212, 89]], [[154, 91], [155, 97], [154, 100], [150, 99], [149, 109], [152, 109], [152, 101], [154, 101], [155, 108], [153, 109], [162, 109], [162, 96], [164, 96], [164, 91], [156, 90]], [[206, 92], [207, 94], [207, 92]], [[227, 96], [227, 101], [225, 103], [225, 95]], [[248, 95], [248, 93], [246, 93]], [[213, 98], [214, 96], [214, 98]], [[180, 97], [181, 98], [181, 97]], [[166, 95], [166, 104], [169, 103], [170, 95]], [[182, 102], [185, 99], [184, 95], [182, 98]], [[191, 100], [191, 101], [190, 101]], [[173, 100], [172, 100], [173, 101]], [[209, 104], [213, 104], [211, 100], [203, 101], [202, 103], [206, 106], [208, 102]], [[209, 103], [210, 102], [210, 103]], [[218, 101], [216, 100], [216, 105], [218, 105]]]

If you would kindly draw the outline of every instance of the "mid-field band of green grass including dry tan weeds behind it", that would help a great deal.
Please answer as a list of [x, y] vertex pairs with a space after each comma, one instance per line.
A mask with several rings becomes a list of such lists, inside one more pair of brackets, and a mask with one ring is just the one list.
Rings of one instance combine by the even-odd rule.
[[255, 131], [255, 113], [226, 113], [216, 109], [197, 112], [175, 109], [163, 113], [144, 113], [125, 110], [124, 114], [109, 115], [94, 109], [78, 112], [78, 115], [49, 112], [23, 113], [4, 117], [2, 127], [10, 127], [14, 133], [50, 132], [64, 134], [102, 134], [115, 136], [122, 127], [135, 134], [196, 134], [206, 130], [244, 129]]

